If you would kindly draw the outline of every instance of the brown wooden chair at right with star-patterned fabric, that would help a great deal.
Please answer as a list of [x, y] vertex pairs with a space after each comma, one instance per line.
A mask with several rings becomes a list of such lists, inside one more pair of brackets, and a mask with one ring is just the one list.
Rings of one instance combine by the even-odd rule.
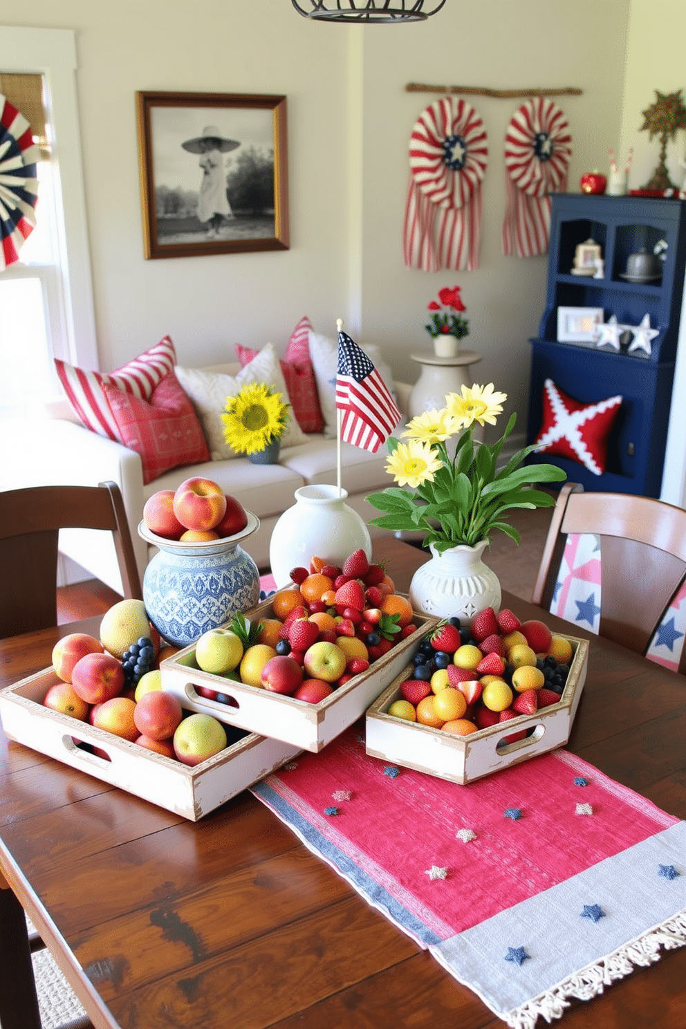
[[686, 511], [565, 484], [532, 602], [686, 674]]

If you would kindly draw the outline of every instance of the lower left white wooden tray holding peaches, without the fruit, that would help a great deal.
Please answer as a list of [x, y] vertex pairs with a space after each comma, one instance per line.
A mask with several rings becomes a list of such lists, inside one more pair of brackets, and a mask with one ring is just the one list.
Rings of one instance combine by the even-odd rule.
[[[43, 707], [48, 688], [60, 681], [48, 668], [0, 690], [5, 736], [191, 821], [299, 753], [298, 747], [252, 733], [191, 768]], [[109, 760], [79, 743], [104, 751]]]

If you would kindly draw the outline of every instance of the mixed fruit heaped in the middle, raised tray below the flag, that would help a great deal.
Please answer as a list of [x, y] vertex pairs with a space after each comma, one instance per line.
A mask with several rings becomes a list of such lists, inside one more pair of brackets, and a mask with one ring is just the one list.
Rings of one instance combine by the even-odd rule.
[[[248, 624], [239, 612], [228, 628], [205, 633], [198, 668], [317, 704], [416, 630], [409, 602], [361, 548], [340, 567], [314, 557], [291, 579], [273, 596], [272, 617]], [[226, 696], [200, 688], [220, 702]]]

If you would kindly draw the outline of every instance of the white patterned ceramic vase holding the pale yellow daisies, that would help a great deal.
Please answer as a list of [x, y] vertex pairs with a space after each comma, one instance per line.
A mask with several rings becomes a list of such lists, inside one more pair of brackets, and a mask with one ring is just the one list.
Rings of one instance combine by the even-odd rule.
[[431, 560], [418, 568], [409, 584], [414, 610], [437, 618], [457, 615], [466, 628], [485, 607], [499, 611], [500, 582], [481, 560], [485, 546], [481, 540], [475, 546], [453, 546], [437, 554], [432, 543]]

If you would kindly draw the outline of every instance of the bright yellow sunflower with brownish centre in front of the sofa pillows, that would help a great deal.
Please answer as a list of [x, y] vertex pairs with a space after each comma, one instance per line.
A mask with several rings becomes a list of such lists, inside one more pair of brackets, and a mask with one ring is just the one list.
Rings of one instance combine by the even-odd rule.
[[264, 383], [252, 383], [236, 396], [227, 396], [221, 420], [229, 447], [239, 454], [254, 454], [274, 439], [280, 439], [290, 406], [281, 397], [281, 393]]

